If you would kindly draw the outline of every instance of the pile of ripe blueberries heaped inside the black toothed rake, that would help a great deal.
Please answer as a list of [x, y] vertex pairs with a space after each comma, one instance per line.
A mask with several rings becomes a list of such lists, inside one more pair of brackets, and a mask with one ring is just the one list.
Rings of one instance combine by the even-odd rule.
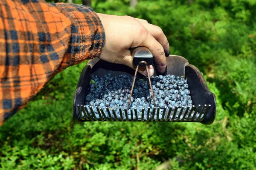
[[[85, 107], [90, 112], [89, 106], [92, 106], [96, 118], [99, 119], [99, 114], [96, 106], [102, 108], [107, 113], [106, 107], [114, 110], [118, 119], [119, 108], [122, 109], [122, 116], [125, 119], [124, 110], [127, 108], [129, 96], [131, 93], [131, 86], [134, 77], [128, 75], [119, 75], [119, 77], [106, 74], [104, 77], [97, 77], [91, 75], [90, 90], [85, 97]], [[163, 109], [165, 107], [175, 110], [178, 107], [177, 113], [180, 112], [182, 106], [183, 112], [186, 111], [187, 107], [192, 108], [193, 102], [191, 99], [189, 84], [184, 77], [175, 75], [156, 76], [151, 77], [151, 84], [154, 92], [154, 99], [156, 107], [160, 108], [160, 119], [163, 115]], [[153, 112], [154, 102], [147, 77], [136, 77], [134, 90], [131, 97], [129, 106], [128, 119], [131, 119], [131, 109], [136, 108], [139, 119], [141, 118], [141, 112], [145, 108], [145, 116], [148, 112], [147, 109], [150, 107], [150, 113]], [[166, 111], [166, 116], [167, 116]], [[132, 112], [134, 114], [134, 112]], [[109, 118], [108, 114], [106, 116]], [[112, 114], [111, 111], [111, 116]], [[134, 118], [135, 116], [133, 116]], [[156, 114], [154, 119], [156, 118]], [[182, 118], [182, 117], [181, 117]]]

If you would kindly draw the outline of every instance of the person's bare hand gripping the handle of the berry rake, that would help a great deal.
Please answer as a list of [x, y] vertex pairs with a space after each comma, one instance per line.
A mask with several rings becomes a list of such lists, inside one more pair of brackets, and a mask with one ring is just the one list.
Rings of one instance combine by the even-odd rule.
[[[106, 41], [99, 59], [116, 64], [123, 64], [133, 69], [130, 48], [147, 47], [154, 56], [157, 71], [166, 70], [166, 57], [169, 56], [169, 42], [160, 27], [129, 16], [116, 16], [97, 13], [105, 29]], [[149, 75], [153, 76], [154, 68], [148, 66]], [[139, 72], [147, 76], [145, 68]]]

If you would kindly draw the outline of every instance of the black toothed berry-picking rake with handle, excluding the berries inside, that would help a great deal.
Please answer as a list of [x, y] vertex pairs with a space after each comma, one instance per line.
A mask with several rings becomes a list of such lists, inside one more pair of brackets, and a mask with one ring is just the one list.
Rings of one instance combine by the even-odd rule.
[[[99, 60], [91, 59], [81, 72], [78, 85], [74, 94], [73, 102], [73, 121], [90, 122], [90, 121], [114, 121], [114, 122], [201, 122], [204, 125], [210, 125], [215, 119], [216, 99], [215, 95], [209, 91], [204, 77], [194, 65], [180, 56], [170, 55], [166, 58], [167, 68], [164, 74], [158, 72], [154, 76], [173, 74], [175, 76], [185, 76], [189, 83], [189, 89], [193, 100], [192, 107], [165, 107], [163, 114], [160, 115], [160, 108], [156, 107], [154, 101], [153, 112], [150, 113], [150, 108], [143, 108], [139, 113], [137, 108], [130, 109], [130, 100], [132, 96], [133, 86], [137, 75], [137, 70], [141, 66], [153, 65], [153, 56], [145, 47], [135, 48], [132, 52], [133, 63], [137, 65], [136, 70], [119, 64], [113, 64]], [[106, 107], [105, 111], [101, 107], [96, 106], [96, 111], [90, 106], [85, 106], [85, 96], [90, 89], [90, 75], [104, 77], [105, 74], [111, 73], [113, 76], [128, 75], [134, 76], [134, 81], [129, 97], [128, 107], [116, 112], [113, 108]], [[151, 93], [154, 100], [151, 81], [148, 79]]]

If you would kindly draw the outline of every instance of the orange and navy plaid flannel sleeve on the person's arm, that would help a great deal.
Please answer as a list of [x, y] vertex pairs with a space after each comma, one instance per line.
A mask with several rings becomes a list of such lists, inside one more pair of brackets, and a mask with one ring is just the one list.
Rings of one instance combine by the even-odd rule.
[[63, 69], [101, 54], [92, 8], [44, 0], [0, 0], [0, 125]]

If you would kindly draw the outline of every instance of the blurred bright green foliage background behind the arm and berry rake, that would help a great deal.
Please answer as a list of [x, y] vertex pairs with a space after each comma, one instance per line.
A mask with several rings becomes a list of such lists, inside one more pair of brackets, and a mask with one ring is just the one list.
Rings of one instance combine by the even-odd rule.
[[[81, 4], [81, 0], [73, 0]], [[0, 169], [256, 170], [256, 1], [92, 0], [96, 12], [160, 26], [171, 54], [202, 71], [217, 98], [212, 125], [72, 123], [73, 94], [86, 62], [56, 75], [0, 127]]]

